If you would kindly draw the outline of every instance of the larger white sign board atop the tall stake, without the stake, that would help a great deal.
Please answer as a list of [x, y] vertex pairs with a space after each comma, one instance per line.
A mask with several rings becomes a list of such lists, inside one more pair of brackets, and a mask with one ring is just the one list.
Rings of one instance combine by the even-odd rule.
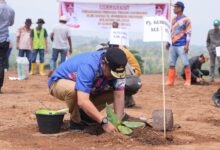
[[169, 42], [171, 43], [171, 26], [164, 17], [144, 18], [144, 42]]

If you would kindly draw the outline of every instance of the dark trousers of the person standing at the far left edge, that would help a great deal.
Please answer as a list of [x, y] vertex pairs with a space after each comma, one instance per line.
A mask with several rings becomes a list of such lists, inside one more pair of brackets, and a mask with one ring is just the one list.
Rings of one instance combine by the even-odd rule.
[[9, 42], [0, 43], [0, 87], [3, 86], [4, 82], [4, 64], [7, 57], [8, 48]]

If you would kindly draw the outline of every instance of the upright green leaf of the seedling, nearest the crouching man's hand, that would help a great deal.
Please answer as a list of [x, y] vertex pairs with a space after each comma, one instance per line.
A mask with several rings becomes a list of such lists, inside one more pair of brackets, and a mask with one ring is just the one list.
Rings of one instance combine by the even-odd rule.
[[117, 128], [118, 125], [120, 124], [119, 119], [107, 103], [106, 103], [106, 114], [108, 120]]

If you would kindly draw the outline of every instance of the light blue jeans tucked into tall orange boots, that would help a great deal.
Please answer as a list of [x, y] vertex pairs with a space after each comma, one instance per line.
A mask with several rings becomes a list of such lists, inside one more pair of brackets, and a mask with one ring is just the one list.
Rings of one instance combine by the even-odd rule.
[[184, 51], [184, 46], [172, 46], [169, 50], [169, 64], [172, 67], [176, 66], [177, 58], [180, 57], [184, 66], [189, 66], [189, 59], [187, 53]]

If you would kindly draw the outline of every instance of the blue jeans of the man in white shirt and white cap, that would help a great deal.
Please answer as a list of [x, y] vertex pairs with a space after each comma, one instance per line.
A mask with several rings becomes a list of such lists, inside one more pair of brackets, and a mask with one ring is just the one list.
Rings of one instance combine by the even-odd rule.
[[53, 48], [52, 58], [50, 60], [50, 70], [55, 70], [56, 62], [57, 62], [57, 58], [58, 58], [59, 53], [60, 53], [60, 56], [61, 56], [61, 62], [60, 63], [63, 63], [66, 60], [66, 54], [67, 54], [66, 49], [55, 49], [55, 48]]

